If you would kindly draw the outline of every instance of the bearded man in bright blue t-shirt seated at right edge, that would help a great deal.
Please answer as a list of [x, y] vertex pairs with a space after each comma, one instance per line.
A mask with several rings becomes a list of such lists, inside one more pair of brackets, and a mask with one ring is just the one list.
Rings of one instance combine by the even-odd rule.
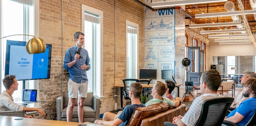
[[225, 118], [225, 120], [244, 126], [252, 117], [256, 109], [256, 78], [250, 78], [244, 85], [244, 97], [248, 100], [243, 101], [235, 110]]

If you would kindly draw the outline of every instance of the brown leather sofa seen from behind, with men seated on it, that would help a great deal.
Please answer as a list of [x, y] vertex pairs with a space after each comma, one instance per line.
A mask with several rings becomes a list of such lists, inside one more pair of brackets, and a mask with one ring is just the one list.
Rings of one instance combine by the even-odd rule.
[[166, 103], [157, 103], [148, 107], [137, 107], [128, 123], [129, 126], [164, 126], [164, 122], [172, 122], [173, 117], [184, 116], [186, 105], [173, 108]]

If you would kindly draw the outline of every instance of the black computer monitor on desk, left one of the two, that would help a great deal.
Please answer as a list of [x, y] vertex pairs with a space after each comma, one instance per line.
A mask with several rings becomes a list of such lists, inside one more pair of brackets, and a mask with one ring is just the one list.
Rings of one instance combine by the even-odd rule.
[[155, 80], [157, 77], [156, 70], [152, 69], [140, 69], [140, 79]]

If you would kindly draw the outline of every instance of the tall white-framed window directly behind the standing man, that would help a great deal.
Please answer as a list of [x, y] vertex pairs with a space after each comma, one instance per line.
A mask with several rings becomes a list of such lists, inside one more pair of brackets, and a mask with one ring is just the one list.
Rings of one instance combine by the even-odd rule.
[[93, 92], [102, 99], [103, 96], [103, 11], [82, 4], [82, 32], [85, 34], [86, 46], [89, 53], [90, 70], [88, 77], [88, 92]]

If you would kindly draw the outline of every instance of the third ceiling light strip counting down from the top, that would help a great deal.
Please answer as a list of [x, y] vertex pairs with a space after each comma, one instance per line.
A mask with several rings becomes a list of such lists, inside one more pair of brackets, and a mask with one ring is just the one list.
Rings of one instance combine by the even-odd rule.
[[218, 27], [218, 26], [239, 26], [242, 25], [241, 22], [226, 22], [226, 23], [212, 23], [212, 24], [196, 24], [189, 25], [189, 28], [197, 28], [197, 27]]

